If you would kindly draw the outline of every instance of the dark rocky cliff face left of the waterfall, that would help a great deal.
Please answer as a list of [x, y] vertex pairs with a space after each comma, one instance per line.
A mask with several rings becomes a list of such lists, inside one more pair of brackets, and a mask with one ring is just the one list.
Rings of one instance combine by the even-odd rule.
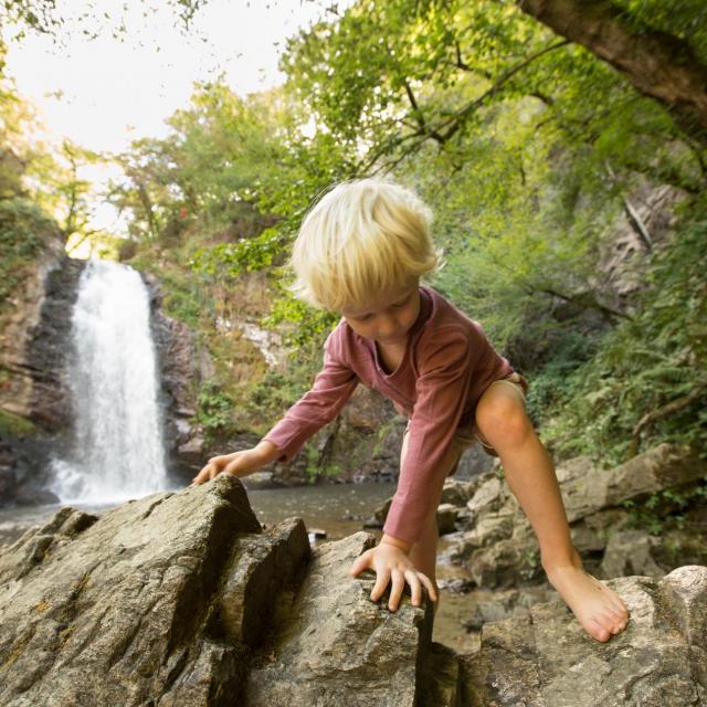
[[55, 500], [43, 486], [70, 424], [63, 370], [83, 263], [48, 238], [0, 313], [0, 506]]

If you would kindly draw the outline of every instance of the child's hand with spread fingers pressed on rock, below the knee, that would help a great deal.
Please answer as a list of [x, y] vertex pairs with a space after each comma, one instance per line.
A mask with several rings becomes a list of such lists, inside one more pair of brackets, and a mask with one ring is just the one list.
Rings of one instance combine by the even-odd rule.
[[400, 598], [405, 588], [405, 582], [410, 584], [412, 593], [412, 605], [419, 606], [422, 603], [422, 585], [426, 588], [432, 601], [437, 600], [437, 594], [432, 580], [418, 571], [408, 553], [401, 548], [382, 540], [380, 545], [367, 550], [351, 566], [351, 577], [357, 577], [363, 570], [371, 569], [376, 572], [376, 584], [371, 592], [371, 601], [378, 601], [391, 582], [390, 599], [388, 609], [395, 611], [400, 604]]

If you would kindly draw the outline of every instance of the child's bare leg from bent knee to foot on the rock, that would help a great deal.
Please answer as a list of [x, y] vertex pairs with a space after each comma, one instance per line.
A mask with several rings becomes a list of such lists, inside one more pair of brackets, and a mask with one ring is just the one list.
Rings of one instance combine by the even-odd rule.
[[588, 574], [573, 547], [552, 462], [523, 404], [504, 387], [489, 388], [476, 424], [503, 462], [508, 486], [528, 516], [548, 580], [598, 641], [623, 631], [629, 612], [619, 595]]

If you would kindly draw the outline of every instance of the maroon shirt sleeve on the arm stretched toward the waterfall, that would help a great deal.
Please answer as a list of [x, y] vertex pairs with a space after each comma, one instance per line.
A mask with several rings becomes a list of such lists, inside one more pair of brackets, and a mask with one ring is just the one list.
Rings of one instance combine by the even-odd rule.
[[312, 389], [263, 437], [282, 452], [279, 462], [289, 462], [310, 436], [334, 420], [358, 384], [356, 373], [331, 352], [331, 340], [333, 335], [325, 344], [324, 367]]

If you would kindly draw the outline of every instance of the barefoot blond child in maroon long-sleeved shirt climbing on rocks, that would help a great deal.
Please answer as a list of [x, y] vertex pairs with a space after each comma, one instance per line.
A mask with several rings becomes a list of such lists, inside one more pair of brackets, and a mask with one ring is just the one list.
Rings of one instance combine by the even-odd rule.
[[361, 381], [409, 418], [383, 537], [351, 568], [352, 576], [374, 570], [371, 599], [391, 583], [388, 605], [395, 611], [408, 583], [413, 605], [421, 603], [422, 587], [436, 601], [436, 507], [444, 479], [478, 439], [500, 457], [550, 583], [584, 630], [608, 641], [625, 629], [629, 614], [612, 590], [583, 571], [552, 463], [525, 411], [525, 381], [476, 323], [419, 285], [439, 265], [430, 221], [411, 191], [374, 179], [339, 184], [309, 211], [293, 249], [294, 289], [342, 315], [325, 344], [324, 368], [255, 447], [210, 460], [194, 483], [291, 460]]

